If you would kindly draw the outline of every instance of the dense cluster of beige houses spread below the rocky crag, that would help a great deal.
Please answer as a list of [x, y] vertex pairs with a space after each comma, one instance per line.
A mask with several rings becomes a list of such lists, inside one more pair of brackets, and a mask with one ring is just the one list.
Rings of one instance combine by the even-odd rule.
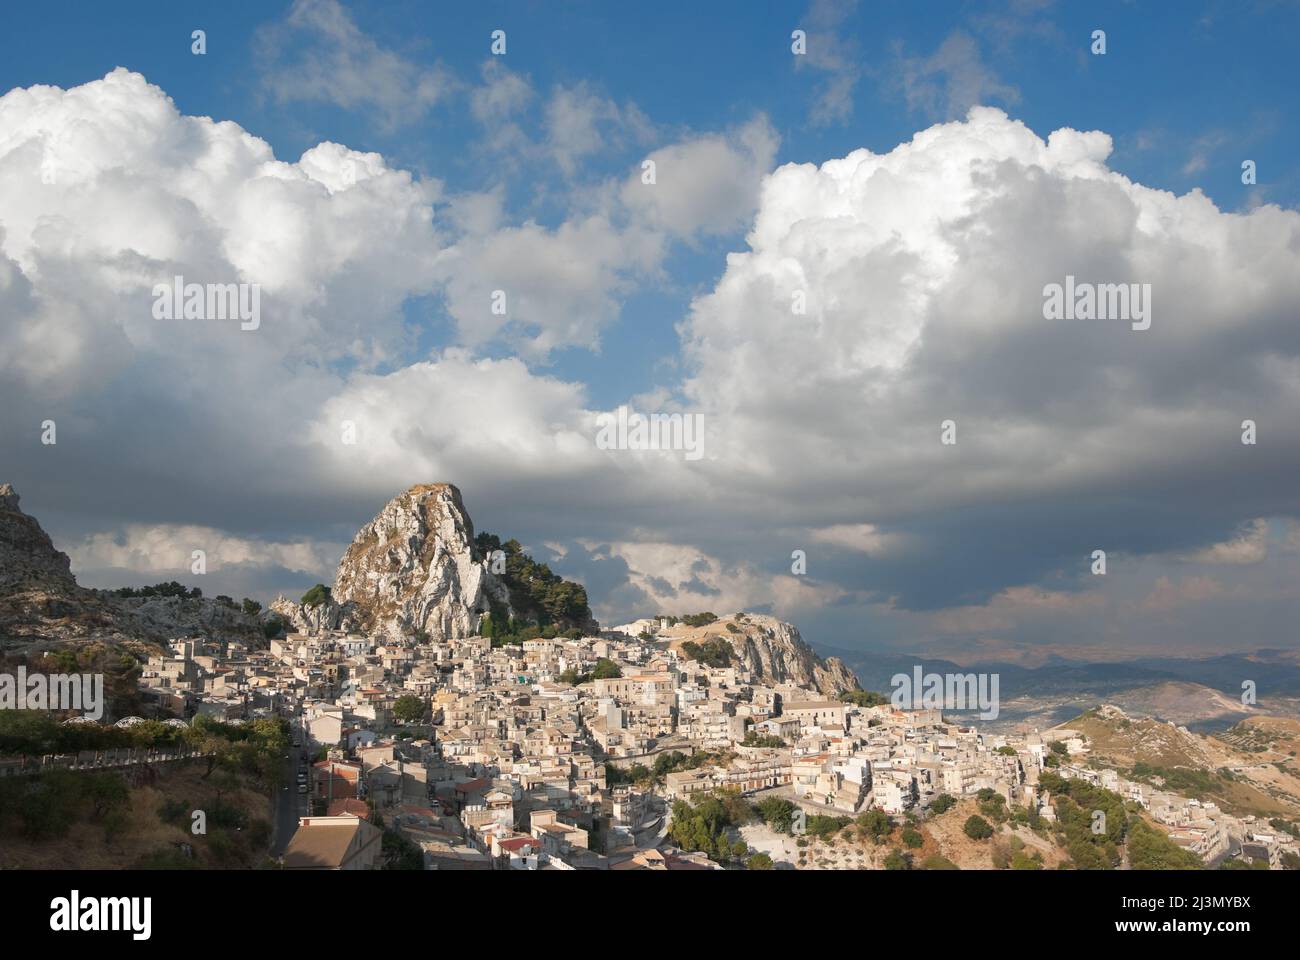
[[[1270, 862], [1290, 848], [1212, 804], [1084, 766], [1072, 731], [991, 735], [941, 710], [859, 706], [698, 662], [672, 640], [667, 620], [499, 648], [330, 631], [265, 650], [178, 640], [140, 684], [177, 717], [294, 718], [312, 762], [287, 869], [373, 869], [385, 829], [430, 870], [720, 869], [667, 838], [673, 799], [718, 788], [831, 814], [904, 814], [992, 788], [1050, 818], [1039, 777], [1054, 741], [1057, 773], [1136, 800], [1206, 860], [1232, 839], [1264, 844]], [[697, 752], [703, 762], [681, 762]], [[654, 786], [611, 771], [659, 758], [671, 769]]]

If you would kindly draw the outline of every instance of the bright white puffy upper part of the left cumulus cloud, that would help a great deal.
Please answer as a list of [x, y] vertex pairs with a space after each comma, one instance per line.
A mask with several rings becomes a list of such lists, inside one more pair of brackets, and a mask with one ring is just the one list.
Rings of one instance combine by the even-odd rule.
[[[400, 303], [432, 289], [437, 196], [436, 182], [334, 143], [278, 161], [122, 69], [14, 90], [0, 98], [0, 252], [23, 274], [6, 286], [30, 297], [5, 337], [53, 392], [159, 355], [202, 390], [221, 358], [332, 360], [359, 341], [384, 354], [406, 337]], [[152, 287], [178, 274], [259, 284], [261, 328], [156, 320]]]

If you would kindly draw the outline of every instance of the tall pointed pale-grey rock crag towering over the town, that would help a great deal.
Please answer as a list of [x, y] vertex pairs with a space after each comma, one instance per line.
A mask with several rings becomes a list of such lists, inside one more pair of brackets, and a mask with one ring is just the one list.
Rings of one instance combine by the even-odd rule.
[[460, 490], [452, 484], [412, 487], [358, 531], [328, 600], [304, 606], [278, 597], [272, 609], [308, 632], [473, 636], [493, 604], [514, 611], [504, 583], [486, 558], [476, 557], [473, 541]]

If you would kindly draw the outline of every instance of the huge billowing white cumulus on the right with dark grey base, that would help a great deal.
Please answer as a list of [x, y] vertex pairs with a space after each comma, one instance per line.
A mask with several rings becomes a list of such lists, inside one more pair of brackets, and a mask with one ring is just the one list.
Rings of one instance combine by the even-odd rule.
[[[1109, 152], [976, 108], [768, 177], [749, 250], [682, 325], [688, 406], [727, 424], [736, 502], [905, 533], [897, 562], [858, 571], [904, 606], [1294, 513], [1300, 216], [1150, 190]], [[1044, 320], [1067, 274], [1150, 284], [1152, 329]], [[1243, 408], [1280, 431], [1268, 447], [1240, 444]]]

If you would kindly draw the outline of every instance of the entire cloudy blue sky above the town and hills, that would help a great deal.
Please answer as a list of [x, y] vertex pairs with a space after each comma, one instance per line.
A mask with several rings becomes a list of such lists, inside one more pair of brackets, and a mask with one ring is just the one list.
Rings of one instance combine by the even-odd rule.
[[[13, 8], [0, 483], [92, 587], [296, 596], [451, 481], [604, 623], [1295, 648], [1297, 27], [1282, 0]], [[256, 323], [160, 315], [177, 276], [256, 286]], [[1147, 291], [1149, 327], [1049, 316], [1067, 277]], [[620, 406], [698, 418], [699, 455], [606, 449]]]

